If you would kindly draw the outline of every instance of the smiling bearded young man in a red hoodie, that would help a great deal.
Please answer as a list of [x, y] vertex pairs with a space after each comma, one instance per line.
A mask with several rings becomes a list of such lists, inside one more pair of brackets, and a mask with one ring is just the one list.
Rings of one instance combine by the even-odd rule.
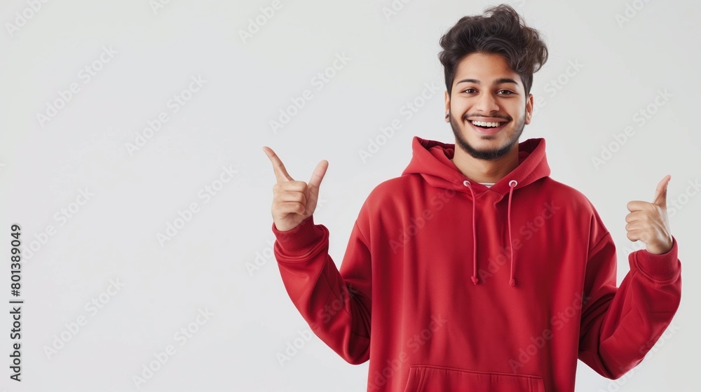
[[653, 202], [627, 204], [627, 236], [646, 249], [617, 288], [597, 211], [550, 179], [545, 140], [518, 142], [547, 60], [538, 32], [502, 5], [459, 20], [441, 46], [456, 143], [414, 137], [402, 176], [362, 205], [340, 271], [312, 215], [328, 162], [294, 181], [264, 147], [287, 293], [343, 359], [370, 361], [368, 391], [573, 391], [578, 358], [622, 376], [679, 306], [669, 176]]

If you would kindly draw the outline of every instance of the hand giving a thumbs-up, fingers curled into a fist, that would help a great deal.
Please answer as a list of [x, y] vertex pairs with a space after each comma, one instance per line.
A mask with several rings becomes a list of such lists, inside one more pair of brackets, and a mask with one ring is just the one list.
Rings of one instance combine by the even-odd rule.
[[669, 252], [672, 249], [672, 233], [669, 232], [667, 218], [667, 184], [672, 176], [667, 174], [655, 190], [653, 202], [634, 200], [628, 202], [630, 213], [625, 216], [625, 230], [631, 241], [643, 241], [647, 251], [655, 255]]

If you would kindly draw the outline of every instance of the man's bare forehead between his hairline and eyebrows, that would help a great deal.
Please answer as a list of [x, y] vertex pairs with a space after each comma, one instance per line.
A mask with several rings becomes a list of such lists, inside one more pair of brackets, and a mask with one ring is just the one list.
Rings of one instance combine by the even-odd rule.
[[470, 53], [458, 62], [454, 83], [465, 78], [491, 83], [499, 78], [512, 78], [521, 81], [518, 73], [509, 68], [505, 57], [496, 53]]

